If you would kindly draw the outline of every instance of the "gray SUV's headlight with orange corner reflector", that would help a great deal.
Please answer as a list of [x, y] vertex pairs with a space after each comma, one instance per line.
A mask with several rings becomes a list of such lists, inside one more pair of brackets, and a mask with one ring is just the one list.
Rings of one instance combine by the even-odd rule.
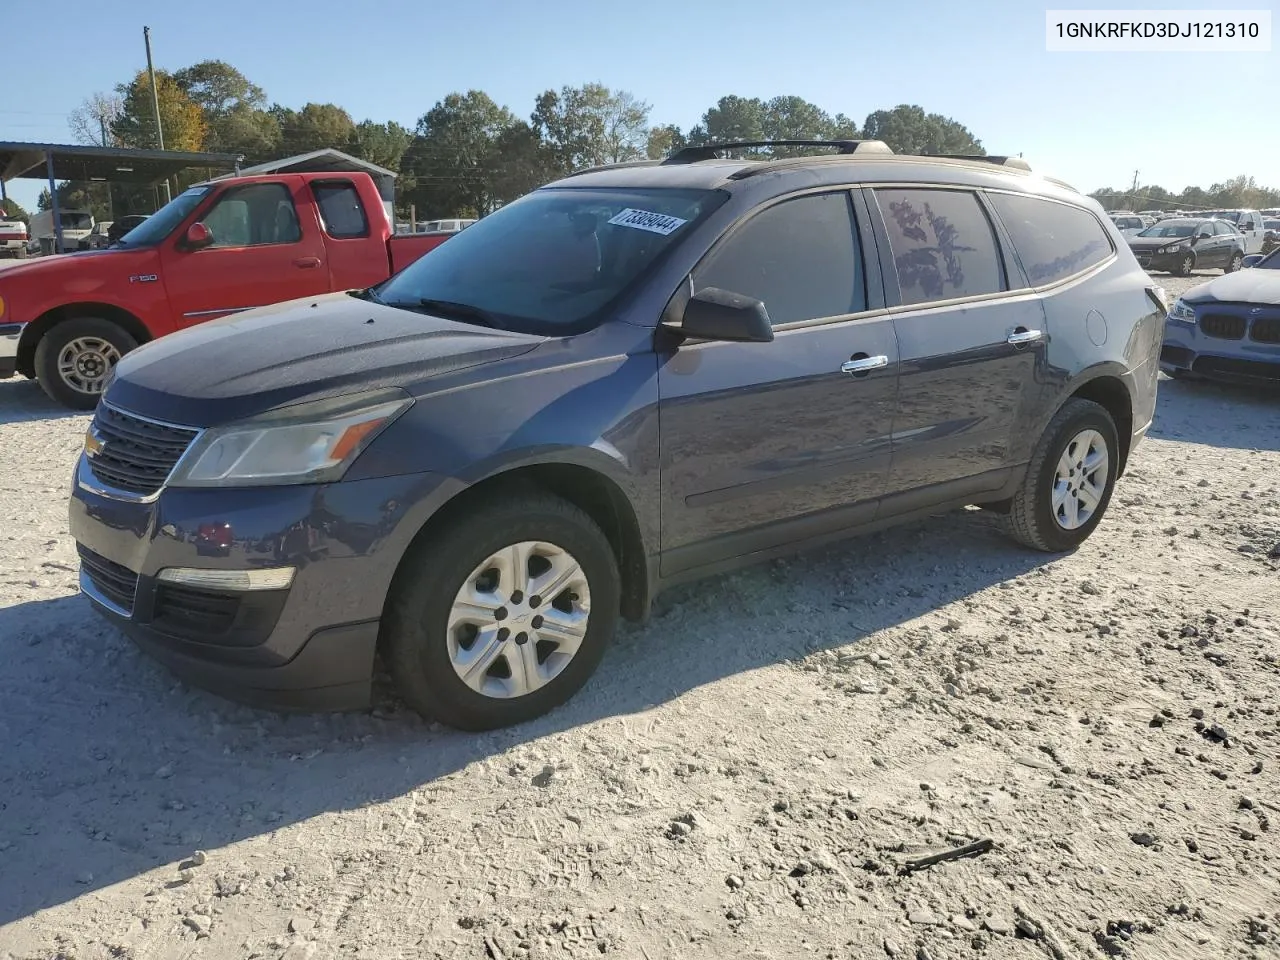
[[413, 399], [399, 389], [300, 403], [205, 430], [172, 486], [266, 486], [340, 480]]

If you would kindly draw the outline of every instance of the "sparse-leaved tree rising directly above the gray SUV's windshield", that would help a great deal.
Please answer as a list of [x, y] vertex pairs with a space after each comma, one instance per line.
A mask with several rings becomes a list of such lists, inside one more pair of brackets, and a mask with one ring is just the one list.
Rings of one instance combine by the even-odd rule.
[[540, 95], [531, 128], [549, 147], [558, 172], [570, 173], [643, 156], [649, 110], [625, 90], [585, 83]]

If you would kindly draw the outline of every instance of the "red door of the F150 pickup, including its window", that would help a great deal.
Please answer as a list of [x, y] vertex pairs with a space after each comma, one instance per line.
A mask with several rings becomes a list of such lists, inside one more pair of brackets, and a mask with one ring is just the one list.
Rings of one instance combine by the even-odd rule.
[[161, 278], [179, 326], [329, 289], [325, 247], [301, 178], [230, 187], [202, 214], [214, 242], [166, 244]]

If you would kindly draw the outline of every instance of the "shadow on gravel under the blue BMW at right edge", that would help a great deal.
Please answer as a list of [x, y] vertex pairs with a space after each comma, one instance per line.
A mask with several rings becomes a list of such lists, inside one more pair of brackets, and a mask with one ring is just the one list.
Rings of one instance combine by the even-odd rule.
[[1280, 389], [1161, 378], [1151, 436], [1280, 451]]

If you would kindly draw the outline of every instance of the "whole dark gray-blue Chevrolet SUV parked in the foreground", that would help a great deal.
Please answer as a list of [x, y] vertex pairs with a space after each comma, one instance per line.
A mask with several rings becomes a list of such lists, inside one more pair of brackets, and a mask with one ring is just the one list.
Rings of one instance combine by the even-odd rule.
[[361, 707], [380, 654], [480, 730], [678, 581], [964, 504], [1079, 545], [1162, 292], [1016, 157], [804, 145], [835, 152], [585, 170], [378, 287], [131, 352], [76, 468], [83, 593], [225, 695]]

